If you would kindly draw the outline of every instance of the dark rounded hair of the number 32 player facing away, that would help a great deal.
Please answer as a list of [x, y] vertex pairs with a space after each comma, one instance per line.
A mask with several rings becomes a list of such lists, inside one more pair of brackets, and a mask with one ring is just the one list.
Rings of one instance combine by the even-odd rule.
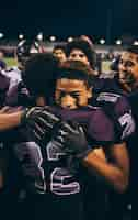
[[31, 95], [51, 96], [57, 66], [57, 58], [48, 53], [36, 54], [26, 62], [23, 81]]

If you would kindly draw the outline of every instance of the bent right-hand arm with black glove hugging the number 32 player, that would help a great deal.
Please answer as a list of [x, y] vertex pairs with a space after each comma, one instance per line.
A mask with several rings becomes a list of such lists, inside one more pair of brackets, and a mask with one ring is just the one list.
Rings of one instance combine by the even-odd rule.
[[[85, 139], [82, 127], [62, 122], [57, 131], [55, 143], [68, 154], [72, 154], [89, 170], [103, 177], [118, 191], [124, 191], [128, 185], [129, 158], [125, 143], [108, 147], [111, 162], [100, 156]], [[99, 146], [96, 146], [97, 148]]]

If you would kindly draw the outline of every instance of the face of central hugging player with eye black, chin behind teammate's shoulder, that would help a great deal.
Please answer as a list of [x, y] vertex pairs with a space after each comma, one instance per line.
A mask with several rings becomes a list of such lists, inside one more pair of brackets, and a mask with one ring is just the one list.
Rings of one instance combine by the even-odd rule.
[[58, 79], [56, 85], [56, 102], [62, 108], [78, 109], [88, 106], [92, 96], [91, 89], [79, 79]]

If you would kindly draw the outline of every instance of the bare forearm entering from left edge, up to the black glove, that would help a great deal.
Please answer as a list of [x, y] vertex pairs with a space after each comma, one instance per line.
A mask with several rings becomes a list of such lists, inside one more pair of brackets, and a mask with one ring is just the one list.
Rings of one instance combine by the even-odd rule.
[[0, 131], [12, 129], [20, 124], [22, 111], [15, 113], [0, 113]]

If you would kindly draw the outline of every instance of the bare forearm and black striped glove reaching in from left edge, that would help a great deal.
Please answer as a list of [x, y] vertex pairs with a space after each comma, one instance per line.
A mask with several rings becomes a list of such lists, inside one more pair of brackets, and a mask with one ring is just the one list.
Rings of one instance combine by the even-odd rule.
[[46, 143], [46, 138], [49, 136], [54, 125], [60, 121], [46, 107], [32, 107], [14, 113], [7, 112], [7, 108], [0, 110], [0, 131], [24, 124], [30, 130], [32, 140], [34, 139], [37, 143], [43, 140]]

